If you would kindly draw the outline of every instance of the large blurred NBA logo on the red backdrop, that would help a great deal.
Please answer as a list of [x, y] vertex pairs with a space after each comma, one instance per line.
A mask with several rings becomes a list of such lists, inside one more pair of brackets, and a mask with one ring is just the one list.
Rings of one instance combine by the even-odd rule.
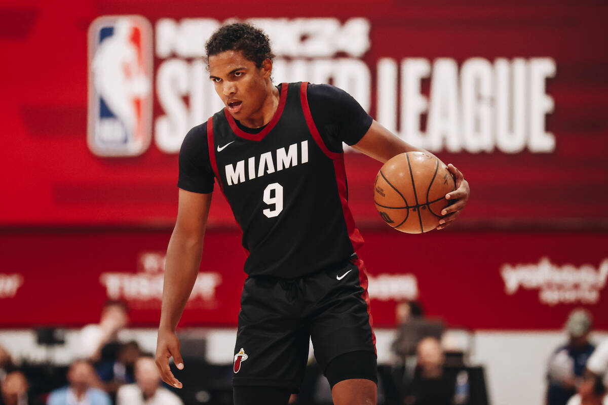
[[89, 27], [87, 142], [99, 156], [142, 154], [152, 137], [152, 27], [102, 16]]

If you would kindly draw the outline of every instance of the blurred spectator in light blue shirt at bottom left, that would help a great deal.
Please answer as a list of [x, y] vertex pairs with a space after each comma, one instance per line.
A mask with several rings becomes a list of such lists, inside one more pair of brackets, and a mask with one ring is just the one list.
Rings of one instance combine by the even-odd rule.
[[68, 386], [50, 393], [47, 405], [111, 405], [109, 395], [97, 388], [97, 375], [91, 363], [73, 362], [67, 370]]

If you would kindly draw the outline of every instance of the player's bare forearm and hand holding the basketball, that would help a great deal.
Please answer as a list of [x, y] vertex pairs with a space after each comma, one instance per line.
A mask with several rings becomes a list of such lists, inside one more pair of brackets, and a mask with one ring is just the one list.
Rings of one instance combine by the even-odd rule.
[[[397, 154], [405, 152], [418, 151], [432, 155], [432, 153], [426, 149], [416, 148], [416, 146], [410, 145], [388, 129], [384, 128], [381, 124], [376, 122], [376, 120], [372, 121], [370, 129], [368, 129], [364, 137], [361, 138], [358, 143], [353, 145], [353, 148], [382, 163], [385, 163]], [[441, 215], [444, 217], [440, 220], [439, 226], [437, 226], [438, 230], [451, 225], [452, 221], [460, 215], [460, 211], [465, 208], [470, 194], [469, 182], [465, 180], [465, 176], [460, 170], [452, 165], [452, 163], [449, 163], [447, 168], [456, 179], [456, 189], [446, 194], [446, 199], [455, 200], [455, 202], [446, 206], [446, 208], [441, 211]]]

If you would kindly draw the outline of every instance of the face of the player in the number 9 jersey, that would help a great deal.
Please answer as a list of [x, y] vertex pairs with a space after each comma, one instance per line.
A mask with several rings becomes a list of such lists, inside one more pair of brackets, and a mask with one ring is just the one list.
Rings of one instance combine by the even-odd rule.
[[237, 120], [261, 114], [268, 97], [272, 64], [258, 68], [241, 51], [227, 50], [209, 57], [209, 77], [228, 111]]

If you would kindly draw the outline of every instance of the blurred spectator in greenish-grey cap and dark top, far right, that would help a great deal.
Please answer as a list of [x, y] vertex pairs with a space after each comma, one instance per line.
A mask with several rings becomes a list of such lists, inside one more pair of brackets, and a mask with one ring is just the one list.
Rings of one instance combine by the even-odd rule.
[[591, 325], [592, 318], [586, 310], [576, 309], [568, 316], [568, 343], [558, 347], [548, 361], [548, 405], [565, 405], [576, 394], [587, 359], [595, 349], [589, 342]]

